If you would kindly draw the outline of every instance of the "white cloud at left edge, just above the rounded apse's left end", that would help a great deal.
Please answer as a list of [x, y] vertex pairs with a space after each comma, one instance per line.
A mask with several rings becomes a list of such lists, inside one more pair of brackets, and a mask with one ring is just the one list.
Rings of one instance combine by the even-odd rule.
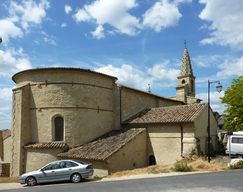
[[23, 53], [23, 49], [8, 49], [6, 52], [0, 50], [0, 77], [12, 76], [13, 74], [31, 69], [32, 66], [28, 56]]

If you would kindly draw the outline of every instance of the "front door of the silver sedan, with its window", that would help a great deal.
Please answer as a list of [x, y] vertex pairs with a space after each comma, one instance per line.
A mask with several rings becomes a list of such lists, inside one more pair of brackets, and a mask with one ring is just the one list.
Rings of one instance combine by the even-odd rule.
[[56, 171], [58, 170], [59, 164], [58, 162], [53, 162], [43, 167], [40, 171], [41, 173], [38, 175], [37, 180], [39, 182], [52, 182], [56, 181]]

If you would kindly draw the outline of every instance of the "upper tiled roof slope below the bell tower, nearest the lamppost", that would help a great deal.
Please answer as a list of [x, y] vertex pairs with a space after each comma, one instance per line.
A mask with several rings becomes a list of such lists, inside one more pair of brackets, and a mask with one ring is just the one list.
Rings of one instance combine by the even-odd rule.
[[123, 124], [192, 123], [207, 103], [145, 109]]

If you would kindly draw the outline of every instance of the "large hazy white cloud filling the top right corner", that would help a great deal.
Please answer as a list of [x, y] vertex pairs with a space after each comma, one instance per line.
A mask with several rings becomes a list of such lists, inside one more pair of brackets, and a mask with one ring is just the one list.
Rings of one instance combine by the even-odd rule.
[[199, 17], [209, 22], [207, 28], [211, 31], [211, 37], [201, 43], [229, 45], [234, 50], [243, 50], [243, 1], [200, 0], [199, 3], [206, 4]]

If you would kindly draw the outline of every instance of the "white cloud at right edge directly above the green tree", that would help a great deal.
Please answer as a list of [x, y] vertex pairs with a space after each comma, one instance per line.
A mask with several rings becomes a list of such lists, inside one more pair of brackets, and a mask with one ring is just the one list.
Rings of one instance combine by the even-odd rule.
[[217, 77], [241, 76], [243, 74], [243, 56], [240, 58], [228, 58], [218, 67], [222, 71], [217, 73]]

